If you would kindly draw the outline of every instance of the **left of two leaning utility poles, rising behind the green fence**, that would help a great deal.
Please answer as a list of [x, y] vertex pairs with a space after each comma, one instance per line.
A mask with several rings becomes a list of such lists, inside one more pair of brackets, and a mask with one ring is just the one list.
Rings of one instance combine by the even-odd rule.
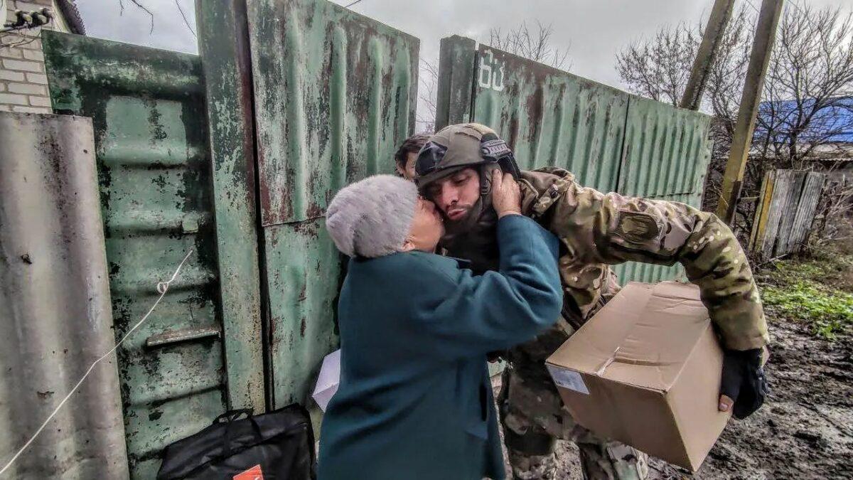
[[702, 44], [699, 44], [699, 50], [696, 51], [696, 58], [693, 60], [693, 68], [690, 70], [688, 86], [682, 96], [681, 108], [699, 109], [699, 103], [702, 102], [702, 92], [705, 91], [705, 84], [708, 81], [708, 73], [711, 73], [711, 67], [717, 58], [722, 33], [726, 30], [728, 20], [732, 18], [733, 9], [734, 0], [714, 1], [711, 15], [708, 16], [708, 24], [705, 25]]

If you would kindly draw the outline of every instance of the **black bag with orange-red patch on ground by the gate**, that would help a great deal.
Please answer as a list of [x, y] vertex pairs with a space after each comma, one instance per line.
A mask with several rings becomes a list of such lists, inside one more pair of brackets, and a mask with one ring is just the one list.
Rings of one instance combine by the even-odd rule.
[[314, 466], [311, 420], [294, 403], [257, 416], [251, 408], [219, 415], [165, 448], [157, 480], [309, 480]]

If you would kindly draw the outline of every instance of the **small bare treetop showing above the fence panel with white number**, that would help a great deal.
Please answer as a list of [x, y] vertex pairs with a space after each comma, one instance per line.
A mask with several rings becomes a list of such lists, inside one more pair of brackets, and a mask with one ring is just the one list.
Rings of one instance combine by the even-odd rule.
[[527, 22], [522, 22], [516, 28], [509, 29], [508, 32], [502, 32], [500, 28], [492, 28], [489, 32], [489, 44], [498, 50], [523, 56], [532, 61], [539, 61], [551, 67], [571, 68], [571, 63], [566, 65], [569, 58], [569, 48], [554, 47], [551, 38], [551, 35], [554, 34], [554, 26], [551, 24], [543, 25], [539, 20], [537, 20], [536, 25], [533, 32], [527, 26]]

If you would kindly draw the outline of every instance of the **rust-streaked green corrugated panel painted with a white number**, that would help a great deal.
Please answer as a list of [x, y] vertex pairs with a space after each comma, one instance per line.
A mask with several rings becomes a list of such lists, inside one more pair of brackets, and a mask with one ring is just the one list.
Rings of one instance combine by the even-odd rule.
[[494, 128], [519, 167], [563, 167], [597, 190], [616, 190], [628, 94], [480, 45], [473, 121]]

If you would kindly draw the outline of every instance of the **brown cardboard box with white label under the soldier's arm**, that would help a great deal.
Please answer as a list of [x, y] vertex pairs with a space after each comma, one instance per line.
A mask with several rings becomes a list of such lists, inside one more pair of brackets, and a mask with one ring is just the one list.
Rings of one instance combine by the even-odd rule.
[[577, 423], [692, 471], [728, 422], [722, 349], [693, 285], [628, 284], [547, 366]]

